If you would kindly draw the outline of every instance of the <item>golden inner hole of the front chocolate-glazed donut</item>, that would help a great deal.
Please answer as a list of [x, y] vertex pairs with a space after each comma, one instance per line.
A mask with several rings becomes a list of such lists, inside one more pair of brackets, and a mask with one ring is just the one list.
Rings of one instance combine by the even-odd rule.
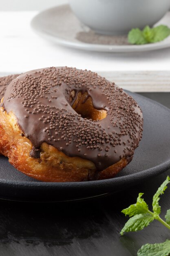
[[70, 95], [70, 102], [75, 100], [72, 108], [83, 118], [99, 121], [107, 116], [106, 110], [99, 110], [93, 107], [92, 99], [87, 92], [84, 92], [83, 94], [82, 92], [78, 92], [76, 99], [75, 97], [76, 94], [73, 90]]

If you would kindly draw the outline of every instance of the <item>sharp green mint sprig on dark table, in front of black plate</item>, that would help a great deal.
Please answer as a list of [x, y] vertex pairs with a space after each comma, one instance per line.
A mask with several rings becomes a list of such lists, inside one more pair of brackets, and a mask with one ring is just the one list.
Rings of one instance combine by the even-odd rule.
[[[144, 227], [147, 227], [153, 220], [158, 220], [161, 224], [170, 229], [170, 209], [166, 212], [165, 221], [159, 216], [161, 213], [161, 207], [159, 205], [160, 195], [167, 189], [168, 183], [170, 183], [169, 176], [153, 196], [152, 211], [149, 210], [148, 205], [142, 198], [143, 193], [139, 193], [135, 204], [131, 204], [128, 208], [121, 211], [131, 217], [121, 230], [121, 235], [123, 235], [124, 232], [144, 229]], [[164, 243], [143, 245], [137, 253], [138, 256], [168, 256], [169, 254], [170, 240], [166, 240]]]

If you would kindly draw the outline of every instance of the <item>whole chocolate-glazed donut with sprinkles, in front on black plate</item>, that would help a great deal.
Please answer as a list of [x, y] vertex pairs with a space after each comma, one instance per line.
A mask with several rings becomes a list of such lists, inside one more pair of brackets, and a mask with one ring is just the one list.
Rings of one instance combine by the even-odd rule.
[[95, 72], [48, 67], [21, 74], [0, 104], [0, 152], [45, 182], [113, 178], [134, 155], [141, 108]]

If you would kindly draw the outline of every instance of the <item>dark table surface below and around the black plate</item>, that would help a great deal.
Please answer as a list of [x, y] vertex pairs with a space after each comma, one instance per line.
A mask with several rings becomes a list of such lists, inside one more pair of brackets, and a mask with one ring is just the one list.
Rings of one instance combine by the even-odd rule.
[[[170, 93], [141, 93], [170, 108]], [[169, 131], [170, 132], [170, 131]], [[145, 243], [160, 243], [170, 231], [154, 221], [143, 231], [120, 236], [128, 220], [121, 210], [144, 193], [151, 206], [170, 170], [107, 197], [82, 202], [0, 201], [0, 256], [136, 256]], [[161, 215], [170, 208], [170, 186], [161, 197]]]

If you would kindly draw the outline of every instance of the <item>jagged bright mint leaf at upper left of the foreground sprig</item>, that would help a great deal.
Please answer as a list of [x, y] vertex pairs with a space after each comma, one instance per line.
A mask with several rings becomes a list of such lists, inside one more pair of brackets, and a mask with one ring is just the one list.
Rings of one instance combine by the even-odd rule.
[[135, 216], [140, 213], [147, 213], [148, 205], [146, 204], [144, 199], [141, 198], [143, 194], [144, 193], [139, 193], [136, 204], [131, 204], [128, 208], [123, 209], [121, 212], [125, 215], [128, 215], [129, 217]]

